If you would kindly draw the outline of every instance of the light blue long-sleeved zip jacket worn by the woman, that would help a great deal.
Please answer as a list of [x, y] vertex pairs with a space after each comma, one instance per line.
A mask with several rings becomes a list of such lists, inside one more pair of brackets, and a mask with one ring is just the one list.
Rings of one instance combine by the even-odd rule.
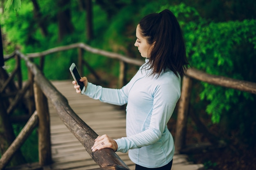
[[[147, 62], [148, 60], [146, 60]], [[88, 83], [85, 95], [102, 102], [126, 107], [126, 135], [116, 139], [119, 152], [128, 152], [131, 161], [147, 168], [158, 168], [173, 159], [174, 142], [167, 128], [180, 98], [180, 77], [162, 71], [150, 75], [143, 66], [121, 89]]]

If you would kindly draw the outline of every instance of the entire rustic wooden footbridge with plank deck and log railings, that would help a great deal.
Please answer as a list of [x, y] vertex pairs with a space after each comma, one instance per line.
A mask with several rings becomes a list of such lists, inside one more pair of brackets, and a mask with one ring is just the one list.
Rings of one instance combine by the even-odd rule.
[[[31, 93], [29, 105], [33, 106], [35, 102], [36, 110], [31, 110], [30, 119], [24, 126], [20, 134], [16, 137], [9, 148], [4, 152], [0, 159], [0, 169], [7, 170], [134, 170], [135, 165], [128, 157], [127, 153], [114, 152], [111, 149], [105, 148], [97, 152], [92, 152], [90, 147], [94, 143], [97, 135], [108, 134], [116, 139], [126, 136], [126, 115], [125, 111], [118, 106], [99, 102], [98, 100], [90, 99], [85, 95], [76, 94], [72, 85], [72, 80], [49, 82], [40, 71], [43, 68], [43, 58], [45, 55], [78, 48], [79, 50], [79, 65], [88, 63], [83, 60], [82, 49], [104, 55], [106, 57], [120, 60], [120, 75], [119, 85], [124, 82], [125, 78], [125, 63], [141, 65], [139, 60], [130, 59], [123, 55], [110, 53], [83, 44], [71, 44], [69, 46], [49, 49], [40, 53], [31, 53], [26, 56], [15, 51], [12, 55], [4, 60], [9, 60], [16, 56], [16, 68], [12, 75], [6, 79], [0, 89], [1, 95], [5, 94], [5, 88], [15, 73], [18, 74], [18, 92], [9, 94], [13, 97], [12, 103], [7, 110], [2, 110], [2, 114], [8, 115], [15, 109], [15, 106], [22, 100], [25, 92], [34, 87], [34, 92]], [[29, 58], [40, 57], [40, 66], [36, 66]], [[22, 87], [20, 78], [20, 58], [25, 60], [29, 69], [29, 80]], [[82, 65], [79, 68], [83, 68]], [[89, 67], [90, 69], [90, 67]], [[82, 72], [80, 70], [80, 72]], [[97, 77], [96, 73], [92, 74]], [[256, 83], [245, 82], [236, 79], [231, 79], [222, 76], [209, 75], [189, 68], [182, 80], [182, 94], [179, 101], [179, 109], [177, 115], [177, 125], [175, 132], [175, 150], [177, 151], [173, 158], [172, 170], [204, 170], [202, 164], [193, 164], [187, 160], [186, 155], [181, 155], [180, 151], [185, 148], [185, 131], [186, 120], [188, 115], [189, 97], [191, 93], [191, 81], [198, 79], [218, 86], [238, 89], [256, 94]], [[0, 96], [1, 97], [1, 96]], [[0, 100], [2, 104], [3, 100]], [[48, 106], [49, 105], [49, 109]], [[1, 108], [1, 107], [0, 107]], [[31, 107], [32, 108], [32, 107]], [[34, 113], [33, 113], [34, 112]], [[49, 113], [49, 114], [48, 114]], [[50, 122], [49, 122], [50, 120]], [[7, 122], [2, 122], [7, 124]], [[38, 151], [39, 162], [21, 165], [18, 167], [8, 167], [7, 163], [20, 148], [22, 143], [27, 139], [27, 136], [38, 125]], [[202, 124], [199, 124], [200, 129], [205, 129]], [[93, 129], [93, 130], [92, 130]], [[208, 133], [207, 138], [212, 144], [218, 144], [218, 141], [211, 137]], [[99, 168], [101, 167], [101, 168]]]

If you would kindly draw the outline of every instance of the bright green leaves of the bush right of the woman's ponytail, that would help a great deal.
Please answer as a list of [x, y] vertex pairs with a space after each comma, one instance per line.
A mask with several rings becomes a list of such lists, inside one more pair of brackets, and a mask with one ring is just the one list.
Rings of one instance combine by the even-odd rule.
[[[256, 20], [212, 22], [204, 20], [193, 7], [183, 3], [162, 7], [165, 8], [173, 11], [182, 26], [192, 67], [212, 75], [255, 81], [256, 70], [252, 63], [256, 63]], [[246, 64], [242, 67], [243, 63]], [[212, 115], [213, 123], [220, 122], [222, 113], [240, 102], [240, 96], [245, 100], [255, 98], [204, 82], [201, 86], [200, 99], [209, 101], [206, 112]]]

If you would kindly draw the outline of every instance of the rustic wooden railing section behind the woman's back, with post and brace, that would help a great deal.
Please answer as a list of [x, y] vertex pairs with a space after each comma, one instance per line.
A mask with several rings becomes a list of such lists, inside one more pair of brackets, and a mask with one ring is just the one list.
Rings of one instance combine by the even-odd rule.
[[[234, 88], [236, 90], [256, 94], [256, 83], [232, 79], [229, 77], [210, 75], [202, 71], [199, 71], [197, 69], [189, 68], [182, 79], [182, 92], [181, 92], [181, 97], [179, 101], [176, 132], [175, 132], [175, 152], [176, 153], [180, 153], [180, 151], [186, 147], [186, 143], [185, 143], [186, 124], [187, 124], [188, 111], [189, 111], [192, 79], [197, 79], [202, 82], [207, 82], [209, 84], [214, 84], [217, 86], [223, 86], [227, 88]], [[210, 145], [213, 144], [215, 146], [221, 147], [223, 145], [223, 141], [218, 141], [215, 138], [215, 136], [207, 130], [207, 128], [202, 124], [202, 122], [198, 119], [197, 116], [195, 115], [192, 115], [192, 116], [197, 126], [200, 126], [198, 128], [201, 129], [201, 131], [204, 131], [204, 135], [206, 135], [207, 139], [210, 141]], [[202, 148], [198, 148], [198, 149], [202, 149]]]

